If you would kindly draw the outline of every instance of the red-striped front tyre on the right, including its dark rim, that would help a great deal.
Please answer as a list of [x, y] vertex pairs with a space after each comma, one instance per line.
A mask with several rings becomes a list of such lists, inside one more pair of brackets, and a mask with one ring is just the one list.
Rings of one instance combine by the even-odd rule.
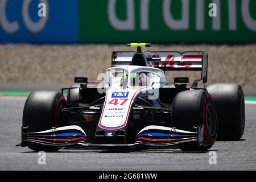
[[210, 94], [205, 90], [187, 90], [178, 93], [172, 102], [171, 126], [193, 131], [194, 126], [204, 125], [204, 137], [208, 146], [184, 144], [183, 151], [205, 151], [213, 146], [217, 137], [217, 115]]

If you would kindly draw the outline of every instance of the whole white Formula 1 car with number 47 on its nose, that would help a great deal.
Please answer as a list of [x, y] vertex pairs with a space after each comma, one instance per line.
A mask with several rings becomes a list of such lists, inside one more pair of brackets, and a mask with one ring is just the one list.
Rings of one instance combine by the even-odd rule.
[[[208, 150], [216, 138], [237, 140], [245, 127], [243, 90], [237, 84], [207, 82], [205, 52], [114, 51], [104, 82], [75, 77], [61, 93], [36, 91], [23, 111], [22, 147], [151, 147]], [[167, 81], [164, 71], [200, 71]], [[63, 96], [67, 92], [67, 100]]]

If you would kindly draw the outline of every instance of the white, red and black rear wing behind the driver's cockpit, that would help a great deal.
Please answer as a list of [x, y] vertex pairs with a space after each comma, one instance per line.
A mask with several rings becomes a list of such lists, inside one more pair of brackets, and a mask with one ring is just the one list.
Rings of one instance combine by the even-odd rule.
[[[137, 52], [114, 51], [112, 67], [129, 65]], [[142, 52], [151, 67], [163, 71], [201, 71], [201, 80], [207, 82], [208, 53], [204, 51], [150, 51]]]

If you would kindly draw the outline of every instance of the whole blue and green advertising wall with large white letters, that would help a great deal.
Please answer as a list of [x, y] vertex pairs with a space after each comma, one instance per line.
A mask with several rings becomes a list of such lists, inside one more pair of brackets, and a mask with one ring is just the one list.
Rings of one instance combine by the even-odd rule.
[[0, 42], [255, 42], [256, 1], [0, 0], [0, 24]]

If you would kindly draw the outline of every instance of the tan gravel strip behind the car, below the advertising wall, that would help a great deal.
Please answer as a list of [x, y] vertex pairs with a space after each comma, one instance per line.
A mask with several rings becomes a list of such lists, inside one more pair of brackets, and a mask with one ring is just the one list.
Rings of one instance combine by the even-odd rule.
[[[209, 53], [208, 83], [236, 82], [256, 88], [256, 44], [152, 44], [150, 49], [180, 52], [205, 50]], [[44, 84], [49, 88], [51, 85], [70, 86], [74, 76], [86, 76], [90, 81], [96, 81], [98, 74], [110, 67], [114, 50], [132, 49], [126, 44], [0, 44], [0, 91], [3, 90], [3, 82], [15, 83], [11, 84], [13, 86], [24, 82], [36, 87]], [[166, 73], [169, 81], [175, 76], [189, 76], [191, 81], [200, 77], [200, 72]], [[25, 84], [20, 86], [28, 87]]]

